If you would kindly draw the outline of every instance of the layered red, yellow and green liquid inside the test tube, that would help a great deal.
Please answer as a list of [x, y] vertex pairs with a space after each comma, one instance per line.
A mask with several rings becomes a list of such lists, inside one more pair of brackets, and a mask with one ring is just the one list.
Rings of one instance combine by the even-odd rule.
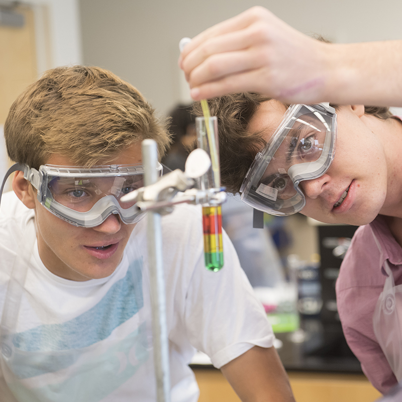
[[203, 207], [205, 266], [211, 271], [223, 267], [222, 208]]

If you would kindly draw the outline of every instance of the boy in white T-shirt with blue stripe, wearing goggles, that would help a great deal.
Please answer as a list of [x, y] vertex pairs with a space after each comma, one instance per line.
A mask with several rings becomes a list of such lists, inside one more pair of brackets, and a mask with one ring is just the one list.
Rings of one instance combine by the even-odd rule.
[[[169, 144], [142, 95], [109, 71], [59, 67], [28, 87], [5, 125], [17, 162], [0, 210], [2, 402], [156, 399], [142, 213], [141, 141]], [[196, 349], [243, 400], [292, 401], [265, 312], [224, 234], [204, 268], [200, 209], [162, 218], [171, 399], [195, 401]]]

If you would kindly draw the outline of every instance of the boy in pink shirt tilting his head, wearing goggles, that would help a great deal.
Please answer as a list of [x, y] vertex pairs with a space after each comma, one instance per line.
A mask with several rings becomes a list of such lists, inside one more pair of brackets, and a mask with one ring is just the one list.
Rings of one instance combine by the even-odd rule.
[[[223, 95], [209, 106], [229, 192], [271, 215], [361, 226], [341, 266], [337, 307], [364, 373], [387, 392], [402, 379], [401, 117], [384, 107], [289, 106], [255, 93]], [[388, 293], [396, 300], [390, 311]]]

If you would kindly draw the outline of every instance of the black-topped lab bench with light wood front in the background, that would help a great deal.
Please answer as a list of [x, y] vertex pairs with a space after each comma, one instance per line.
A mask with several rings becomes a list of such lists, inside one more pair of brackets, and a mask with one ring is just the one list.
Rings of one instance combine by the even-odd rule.
[[[319, 319], [307, 319], [299, 331], [275, 336], [296, 402], [373, 402], [381, 396], [363, 374], [340, 327], [324, 328]], [[220, 370], [208, 362], [191, 368], [199, 402], [240, 401]]]

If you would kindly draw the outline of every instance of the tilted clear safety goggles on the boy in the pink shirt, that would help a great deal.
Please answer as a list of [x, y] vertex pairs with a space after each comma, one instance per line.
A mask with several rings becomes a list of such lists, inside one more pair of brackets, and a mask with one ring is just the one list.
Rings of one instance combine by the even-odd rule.
[[299, 183], [329, 169], [336, 135], [336, 113], [329, 104], [291, 105], [243, 180], [243, 202], [270, 215], [301, 211], [306, 197]]

